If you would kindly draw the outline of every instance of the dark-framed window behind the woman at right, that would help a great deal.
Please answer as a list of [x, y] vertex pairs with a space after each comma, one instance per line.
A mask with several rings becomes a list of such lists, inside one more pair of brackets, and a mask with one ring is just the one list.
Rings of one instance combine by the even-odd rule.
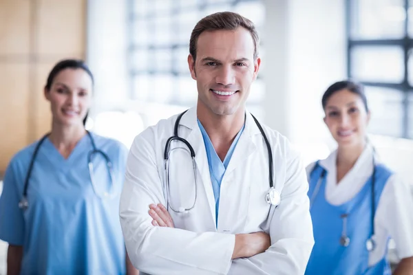
[[346, 0], [348, 77], [366, 87], [370, 132], [413, 139], [413, 0]]

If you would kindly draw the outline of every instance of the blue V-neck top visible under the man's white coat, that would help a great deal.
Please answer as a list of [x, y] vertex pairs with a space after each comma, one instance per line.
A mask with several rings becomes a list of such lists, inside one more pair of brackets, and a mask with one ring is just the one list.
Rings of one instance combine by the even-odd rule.
[[205, 149], [207, 151], [209, 174], [211, 175], [213, 196], [215, 197], [215, 226], [218, 226], [218, 209], [220, 208], [220, 190], [222, 178], [224, 177], [226, 167], [228, 167], [229, 161], [231, 160], [231, 157], [234, 153], [235, 146], [237, 146], [238, 140], [240, 140], [240, 136], [244, 131], [245, 123], [235, 136], [231, 147], [229, 147], [228, 153], [226, 153], [226, 156], [224, 158], [224, 162], [222, 162], [220, 157], [218, 157], [215, 148], [213, 148], [211, 139], [209, 138], [207, 131], [205, 131], [204, 126], [202, 126], [200, 120], [198, 120], [198, 126], [200, 127], [202, 137], [204, 139]]

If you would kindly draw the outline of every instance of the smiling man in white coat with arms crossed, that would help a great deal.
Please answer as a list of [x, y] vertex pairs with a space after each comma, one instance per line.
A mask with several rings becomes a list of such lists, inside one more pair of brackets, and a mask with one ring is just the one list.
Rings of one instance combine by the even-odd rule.
[[120, 223], [142, 274], [304, 274], [314, 244], [304, 166], [245, 107], [258, 45], [239, 14], [199, 21], [188, 56], [197, 106], [134, 140]]

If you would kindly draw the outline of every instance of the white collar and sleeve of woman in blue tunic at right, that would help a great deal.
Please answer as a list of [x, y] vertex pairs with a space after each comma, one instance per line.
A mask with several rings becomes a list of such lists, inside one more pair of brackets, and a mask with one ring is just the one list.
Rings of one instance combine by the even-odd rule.
[[[337, 184], [337, 150], [326, 159], [321, 159], [319, 165], [327, 170], [326, 200], [339, 206], [350, 201], [366, 184], [373, 173], [373, 147], [368, 144], [359, 159], [348, 173]], [[380, 164], [381, 159], [375, 155], [374, 162]], [[310, 176], [315, 162], [308, 165], [307, 175]], [[413, 256], [413, 199], [409, 184], [401, 181], [396, 174], [389, 177], [385, 183], [374, 215], [374, 239], [376, 248], [369, 254], [368, 265], [372, 266], [383, 259], [387, 251], [388, 239], [396, 243], [399, 259]]]

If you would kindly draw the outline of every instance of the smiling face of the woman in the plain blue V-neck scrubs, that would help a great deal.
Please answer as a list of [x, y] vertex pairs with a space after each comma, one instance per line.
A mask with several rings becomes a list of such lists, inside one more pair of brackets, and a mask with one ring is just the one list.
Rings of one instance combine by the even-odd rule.
[[83, 126], [91, 96], [92, 78], [83, 69], [63, 69], [54, 77], [50, 89], [45, 89], [53, 122], [65, 126]]

